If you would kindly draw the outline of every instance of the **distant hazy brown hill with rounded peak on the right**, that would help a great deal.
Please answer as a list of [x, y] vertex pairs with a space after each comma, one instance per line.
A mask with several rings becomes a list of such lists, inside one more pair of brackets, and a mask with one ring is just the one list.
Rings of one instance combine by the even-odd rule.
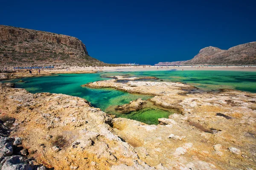
[[256, 65], [256, 42], [237, 45], [228, 50], [209, 46], [201, 49], [194, 58], [181, 63], [181, 65]]

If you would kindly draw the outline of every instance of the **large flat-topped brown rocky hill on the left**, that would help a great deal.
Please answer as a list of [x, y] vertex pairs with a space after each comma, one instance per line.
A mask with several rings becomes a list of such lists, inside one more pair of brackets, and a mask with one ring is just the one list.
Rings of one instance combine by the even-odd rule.
[[0, 25], [0, 66], [102, 65], [76, 37]]

